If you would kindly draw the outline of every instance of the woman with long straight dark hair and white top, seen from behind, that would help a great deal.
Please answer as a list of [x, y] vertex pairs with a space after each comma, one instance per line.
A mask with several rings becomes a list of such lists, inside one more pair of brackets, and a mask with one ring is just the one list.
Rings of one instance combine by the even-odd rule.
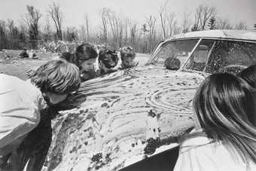
[[176, 171], [256, 170], [251, 91], [244, 80], [231, 74], [206, 78], [194, 97], [196, 132], [181, 143]]

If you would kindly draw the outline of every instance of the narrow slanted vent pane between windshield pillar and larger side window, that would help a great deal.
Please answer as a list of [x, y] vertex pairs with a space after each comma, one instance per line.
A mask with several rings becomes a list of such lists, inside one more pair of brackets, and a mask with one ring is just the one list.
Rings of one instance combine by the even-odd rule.
[[201, 40], [200, 44], [190, 56], [185, 68], [188, 70], [204, 71], [215, 40]]

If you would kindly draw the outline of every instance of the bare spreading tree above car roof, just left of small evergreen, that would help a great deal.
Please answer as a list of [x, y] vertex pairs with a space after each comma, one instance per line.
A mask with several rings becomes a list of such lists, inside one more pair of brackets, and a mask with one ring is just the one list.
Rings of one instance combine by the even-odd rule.
[[200, 5], [197, 7], [193, 31], [204, 30], [208, 20], [214, 16], [215, 13], [215, 7], [209, 7], [208, 5]]

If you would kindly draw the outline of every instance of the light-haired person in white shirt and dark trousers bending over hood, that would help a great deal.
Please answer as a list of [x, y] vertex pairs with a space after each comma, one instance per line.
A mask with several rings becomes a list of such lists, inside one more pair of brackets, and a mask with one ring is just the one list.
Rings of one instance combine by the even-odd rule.
[[45, 103], [65, 101], [80, 84], [78, 67], [61, 59], [41, 65], [27, 81], [0, 74], [0, 170], [41, 170], [51, 142]]

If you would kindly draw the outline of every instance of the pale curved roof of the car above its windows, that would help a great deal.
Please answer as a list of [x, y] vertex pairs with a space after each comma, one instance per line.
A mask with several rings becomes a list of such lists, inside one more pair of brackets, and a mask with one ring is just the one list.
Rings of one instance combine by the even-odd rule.
[[235, 40], [256, 41], [256, 30], [204, 30], [175, 34], [168, 40], [192, 39], [192, 38], [221, 38]]

